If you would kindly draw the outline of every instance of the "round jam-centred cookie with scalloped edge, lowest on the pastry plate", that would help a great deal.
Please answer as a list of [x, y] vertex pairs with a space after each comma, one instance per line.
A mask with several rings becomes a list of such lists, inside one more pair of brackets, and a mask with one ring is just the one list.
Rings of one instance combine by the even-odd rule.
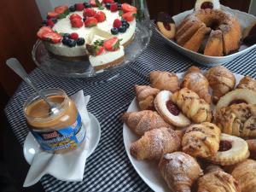
[[217, 154], [210, 156], [208, 160], [221, 166], [230, 166], [246, 160], [249, 155], [245, 140], [222, 133]]

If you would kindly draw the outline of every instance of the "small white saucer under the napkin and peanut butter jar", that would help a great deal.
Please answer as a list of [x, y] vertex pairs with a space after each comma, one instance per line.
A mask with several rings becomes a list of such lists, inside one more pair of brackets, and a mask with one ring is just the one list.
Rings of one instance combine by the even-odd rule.
[[[94, 152], [101, 137], [101, 125], [99, 121], [92, 113], [89, 113], [89, 118], [91, 131], [90, 141], [86, 141], [86, 144], [89, 144], [89, 151], [86, 158], [88, 158], [90, 154]], [[31, 165], [34, 155], [40, 152], [41, 150], [42, 149], [40, 148], [40, 145], [38, 144], [37, 140], [35, 139], [35, 137], [32, 136], [32, 133], [29, 132], [26, 136], [26, 140], [23, 145], [23, 154], [26, 159], [26, 162], [29, 165]]]

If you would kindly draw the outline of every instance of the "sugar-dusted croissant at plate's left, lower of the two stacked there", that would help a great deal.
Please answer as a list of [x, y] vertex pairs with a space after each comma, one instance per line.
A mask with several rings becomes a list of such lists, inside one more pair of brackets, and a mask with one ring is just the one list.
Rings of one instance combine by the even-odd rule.
[[137, 160], [160, 160], [163, 154], [177, 151], [180, 146], [177, 133], [162, 127], [145, 132], [143, 137], [131, 143], [130, 152]]

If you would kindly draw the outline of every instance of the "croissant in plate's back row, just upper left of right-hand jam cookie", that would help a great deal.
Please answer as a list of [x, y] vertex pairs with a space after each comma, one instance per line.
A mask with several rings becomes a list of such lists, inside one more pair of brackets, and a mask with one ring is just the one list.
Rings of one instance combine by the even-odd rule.
[[224, 96], [227, 92], [233, 90], [236, 84], [234, 74], [223, 66], [210, 68], [205, 76], [212, 88], [212, 100], [214, 103], [218, 102], [221, 96]]

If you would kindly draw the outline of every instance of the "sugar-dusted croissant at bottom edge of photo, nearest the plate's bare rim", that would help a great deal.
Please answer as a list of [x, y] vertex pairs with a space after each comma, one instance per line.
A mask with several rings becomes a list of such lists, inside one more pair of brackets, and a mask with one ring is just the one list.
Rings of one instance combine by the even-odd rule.
[[203, 174], [195, 158], [183, 152], [164, 154], [159, 168], [168, 187], [175, 192], [190, 192], [193, 183]]

